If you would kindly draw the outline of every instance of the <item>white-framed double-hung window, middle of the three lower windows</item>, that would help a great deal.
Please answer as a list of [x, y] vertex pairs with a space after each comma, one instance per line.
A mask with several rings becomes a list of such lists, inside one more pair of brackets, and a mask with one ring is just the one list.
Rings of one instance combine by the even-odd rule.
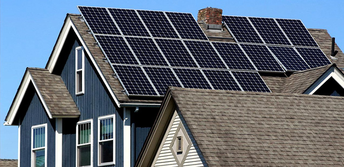
[[84, 120], [76, 126], [76, 166], [92, 166], [92, 120]]

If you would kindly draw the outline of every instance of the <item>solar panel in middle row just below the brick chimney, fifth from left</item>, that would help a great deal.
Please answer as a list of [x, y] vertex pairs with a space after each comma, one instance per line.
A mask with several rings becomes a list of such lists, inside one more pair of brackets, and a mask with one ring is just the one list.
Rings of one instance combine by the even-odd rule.
[[212, 42], [212, 45], [230, 69], [255, 70], [238, 44]]

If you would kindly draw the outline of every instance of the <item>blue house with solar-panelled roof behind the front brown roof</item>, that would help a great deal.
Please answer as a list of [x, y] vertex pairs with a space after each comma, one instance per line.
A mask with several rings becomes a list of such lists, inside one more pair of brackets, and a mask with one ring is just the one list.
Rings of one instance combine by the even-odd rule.
[[[19, 127], [18, 166], [153, 165], [166, 140], [159, 118], [168, 86], [344, 95], [344, 54], [326, 30], [299, 20], [216, 8], [200, 10], [197, 21], [189, 13], [78, 9], [67, 14], [46, 67], [26, 69], [5, 119]], [[146, 138], [156, 132], [152, 146]]]

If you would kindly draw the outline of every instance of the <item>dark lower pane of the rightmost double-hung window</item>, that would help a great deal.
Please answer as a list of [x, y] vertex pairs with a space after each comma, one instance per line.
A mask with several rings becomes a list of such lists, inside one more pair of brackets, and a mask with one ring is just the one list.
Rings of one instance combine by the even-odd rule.
[[113, 161], [113, 141], [99, 143], [100, 163]]

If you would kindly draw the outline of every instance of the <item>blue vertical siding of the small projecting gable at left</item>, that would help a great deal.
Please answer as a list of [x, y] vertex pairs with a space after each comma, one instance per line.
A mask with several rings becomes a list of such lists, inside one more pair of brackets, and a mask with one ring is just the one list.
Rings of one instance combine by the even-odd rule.
[[[34, 90], [33, 86], [30, 86], [29, 90]], [[36, 92], [27, 93], [25, 99], [25, 108], [19, 110], [26, 111], [20, 116], [20, 166], [31, 166], [31, 127], [44, 123], [47, 123], [47, 164], [55, 166], [55, 119], [49, 118]]]

